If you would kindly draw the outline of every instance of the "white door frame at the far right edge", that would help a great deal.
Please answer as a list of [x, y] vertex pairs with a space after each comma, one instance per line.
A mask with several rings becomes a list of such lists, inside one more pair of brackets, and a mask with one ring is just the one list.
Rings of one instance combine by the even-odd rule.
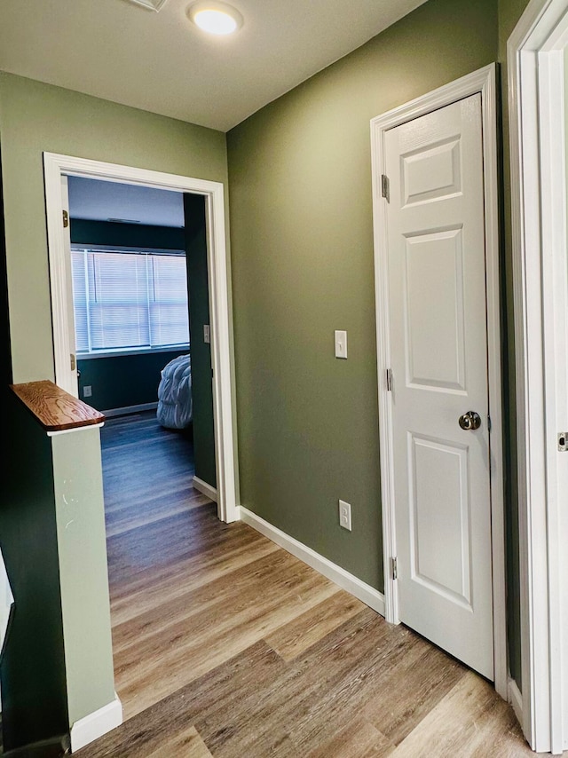
[[568, 682], [563, 682], [568, 608], [563, 608], [565, 543], [559, 531], [568, 492], [568, 454], [557, 450], [557, 433], [568, 430], [568, 303], [565, 290], [558, 287], [567, 276], [567, 14], [566, 0], [531, 0], [507, 45], [522, 725], [534, 750], [555, 754], [568, 748]]

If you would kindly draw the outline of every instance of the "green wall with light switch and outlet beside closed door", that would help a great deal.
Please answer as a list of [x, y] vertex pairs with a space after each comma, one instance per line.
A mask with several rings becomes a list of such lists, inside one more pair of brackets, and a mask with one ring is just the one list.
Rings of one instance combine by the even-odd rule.
[[380, 590], [369, 120], [496, 58], [495, 0], [430, 0], [228, 133], [241, 503]]

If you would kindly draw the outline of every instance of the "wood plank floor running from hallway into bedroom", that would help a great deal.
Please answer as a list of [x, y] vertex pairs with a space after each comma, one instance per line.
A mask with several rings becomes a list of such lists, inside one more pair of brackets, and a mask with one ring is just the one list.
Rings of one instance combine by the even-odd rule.
[[116, 689], [81, 758], [523, 756], [481, 677], [193, 490], [155, 415], [102, 430]]

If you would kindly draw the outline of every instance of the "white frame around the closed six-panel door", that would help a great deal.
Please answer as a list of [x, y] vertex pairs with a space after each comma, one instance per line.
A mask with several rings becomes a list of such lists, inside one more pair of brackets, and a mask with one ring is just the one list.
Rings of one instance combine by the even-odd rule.
[[496, 66], [492, 64], [463, 76], [421, 98], [412, 100], [371, 121], [373, 217], [375, 227], [375, 307], [377, 368], [379, 376], [379, 432], [381, 442], [381, 494], [383, 503], [383, 559], [386, 619], [397, 624], [398, 592], [391, 561], [397, 555], [394, 509], [394, 454], [390, 368], [387, 209], [382, 197], [384, 136], [387, 130], [445, 107], [456, 100], [481, 94], [485, 188], [485, 246], [489, 408], [491, 414], [491, 513], [493, 558], [494, 684], [508, 698], [507, 627], [505, 611], [505, 528], [503, 506], [503, 453], [501, 421], [501, 334], [499, 298], [499, 229], [497, 171]]

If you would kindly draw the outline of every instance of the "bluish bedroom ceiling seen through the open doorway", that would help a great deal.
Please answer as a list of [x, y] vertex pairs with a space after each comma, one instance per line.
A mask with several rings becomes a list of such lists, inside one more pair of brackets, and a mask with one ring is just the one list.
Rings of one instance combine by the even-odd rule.
[[102, 179], [69, 177], [69, 215], [90, 221], [183, 226], [183, 193]]

